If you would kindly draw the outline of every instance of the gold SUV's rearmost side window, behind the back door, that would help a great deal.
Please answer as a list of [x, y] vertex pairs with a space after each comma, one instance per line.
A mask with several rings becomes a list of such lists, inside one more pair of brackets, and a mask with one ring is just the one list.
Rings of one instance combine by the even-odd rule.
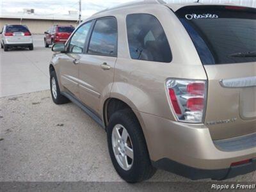
[[172, 53], [164, 30], [153, 15], [127, 15], [129, 51], [134, 60], [170, 63]]

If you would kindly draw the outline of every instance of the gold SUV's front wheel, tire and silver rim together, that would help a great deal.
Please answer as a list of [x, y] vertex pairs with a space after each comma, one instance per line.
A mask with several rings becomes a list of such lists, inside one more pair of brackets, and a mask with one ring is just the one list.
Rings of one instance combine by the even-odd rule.
[[50, 86], [51, 86], [52, 100], [55, 104], [65, 104], [65, 103], [69, 102], [67, 97], [61, 95], [61, 93], [60, 93], [58, 79], [56, 76], [56, 72], [54, 70], [50, 74]]

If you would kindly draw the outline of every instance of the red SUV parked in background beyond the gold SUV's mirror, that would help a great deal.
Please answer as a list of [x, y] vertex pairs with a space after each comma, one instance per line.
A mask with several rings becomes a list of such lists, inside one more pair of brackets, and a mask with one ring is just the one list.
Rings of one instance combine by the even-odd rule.
[[44, 32], [45, 47], [49, 47], [49, 45], [53, 45], [58, 42], [65, 43], [74, 29], [75, 28], [73, 26], [52, 26], [48, 31]]

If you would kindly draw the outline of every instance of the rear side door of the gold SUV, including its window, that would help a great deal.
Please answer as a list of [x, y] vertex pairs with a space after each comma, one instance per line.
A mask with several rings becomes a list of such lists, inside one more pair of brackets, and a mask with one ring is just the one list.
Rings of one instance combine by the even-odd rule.
[[105, 17], [94, 21], [86, 54], [80, 58], [79, 98], [100, 114], [100, 99], [113, 83], [117, 56], [117, 21]]

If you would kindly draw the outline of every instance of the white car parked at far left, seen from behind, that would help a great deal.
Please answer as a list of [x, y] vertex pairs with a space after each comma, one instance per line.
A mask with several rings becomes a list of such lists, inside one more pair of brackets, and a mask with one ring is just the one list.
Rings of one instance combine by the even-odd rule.
[[4, 51], [12, 47], [28, 47], [29, 50], [33, 50], [32, 35], [24, 25], [4, 25], [0, 34], [0, 43]]

